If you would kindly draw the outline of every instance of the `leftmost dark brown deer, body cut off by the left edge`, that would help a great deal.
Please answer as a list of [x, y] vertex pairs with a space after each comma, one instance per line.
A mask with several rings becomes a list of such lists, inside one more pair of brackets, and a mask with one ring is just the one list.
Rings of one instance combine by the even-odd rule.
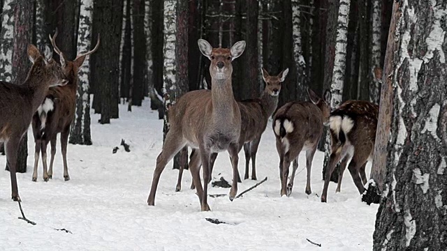
[[52, 59], [47, 47], [45, 58], [34, 46], [28, 46], [28, 56], [33, 65], [22, 84], [0, 82], [0, 142], [6, 145], [6, 161], [10, 169], [12, 199], [20, 201], [15, 167], [20, 140], [29, 128], [50, 86], [67, 84], [59, 64]]

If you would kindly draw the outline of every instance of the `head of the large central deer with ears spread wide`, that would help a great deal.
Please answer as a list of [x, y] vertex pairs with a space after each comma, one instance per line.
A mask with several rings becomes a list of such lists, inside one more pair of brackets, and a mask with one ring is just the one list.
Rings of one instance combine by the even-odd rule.
[[239, 41], [231, 49], [226, 49], [213, 48], [206, 40], [199, 39], [198, 47], [200, 52], [211, 60], [210, 74], [212, 79], [223, 80], [231, 78], [233, 73], [231, 61], [242, 55], [245, 49], [245, 41]]

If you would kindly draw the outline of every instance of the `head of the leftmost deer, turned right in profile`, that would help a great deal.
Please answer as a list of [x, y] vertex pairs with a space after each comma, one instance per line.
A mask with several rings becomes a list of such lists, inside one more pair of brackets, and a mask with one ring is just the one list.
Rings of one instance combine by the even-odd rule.
[[[34, 70], [39, 69], [36, 70], [38, 76], [35, 77], [50, 77], [50, 80], [48, 81], [50, 86], [64, 86], [68, 83], [64, 70], [62, 70], [61, 66], [52, 59], [52, 50], [50, 47], [45, 47], [45, 56], [42, 56], [36, 46], [28, 45], [28, 57], [29, 61], [33, 63], [28, 77], [31, 76], [31, 73], [33, 73]], [[42, 71], [41, 69], [44, 70]]]

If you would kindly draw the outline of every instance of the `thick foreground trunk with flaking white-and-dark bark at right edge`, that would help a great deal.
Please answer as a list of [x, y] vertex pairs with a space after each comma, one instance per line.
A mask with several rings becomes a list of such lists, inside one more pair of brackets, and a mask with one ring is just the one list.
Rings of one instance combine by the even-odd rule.
[[385, 196], [374, 250], [447, 247], [446, 1], [400, 1]]

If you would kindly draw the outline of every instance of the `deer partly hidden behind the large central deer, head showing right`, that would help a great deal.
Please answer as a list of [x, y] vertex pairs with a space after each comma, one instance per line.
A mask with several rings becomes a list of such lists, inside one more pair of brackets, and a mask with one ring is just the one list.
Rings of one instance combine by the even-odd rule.
[[[244, 179], [249, 178], [249, 163], [251, 160], [251, 179], [256, 181], [256, 153], [258, 152], [259, 142], [261, 136], [267, 128], [268, 119], [277, 109], [279, 92], [281, 91], [281, 84], [286, 79], [288, 68], [281, 71], [278, 75], [270, 76], [267, 70], [261, 68], [263, 80], [265, 82], [265, 89], [260, 98], [242, 100], [237, 102], [239, 106], [242, 123], [240, 128], [239, 153], [244, 147], [245, 153], [245, 174]], [[191, 153], [192, 155], [192, 153]], [[210, 174], [214, 167], [214, 161], [217, 158], [217, 153], [211, 155], [210, 160]], [[183, 167], [184, 165], [182, 165]], [[182, 168], [180, 167], [180, 168]], [[210, 176], [211, 177], [211, 176]], [[237, 174], [240, 182], [239, 172]], [[211, 178], [210, 178], [211, 181]], [[210, 182], [209, 181], [209, 182]], [[176, 191], [181, 189], [182, 172], [179, 172], [177, 180]], [[194, 189], [194, 183], [191, 184], [191, 189]]]

